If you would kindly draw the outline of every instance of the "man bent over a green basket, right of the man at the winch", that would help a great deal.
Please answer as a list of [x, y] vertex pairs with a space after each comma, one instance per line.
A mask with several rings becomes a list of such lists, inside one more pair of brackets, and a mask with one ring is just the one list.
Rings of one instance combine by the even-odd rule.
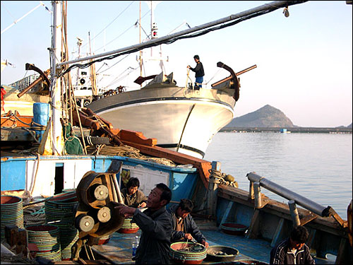
[[172, 242], [184, 241], [184, 240], [195, 240], [208, 247], [205, 236], [198, 229], [192, 216], [189, 214], [193, 211], [193, 202], [189, 199], [181, 199], [179, 205], [171, 206], [168, 209], [172, 215], [173, 230], [172, 230]]

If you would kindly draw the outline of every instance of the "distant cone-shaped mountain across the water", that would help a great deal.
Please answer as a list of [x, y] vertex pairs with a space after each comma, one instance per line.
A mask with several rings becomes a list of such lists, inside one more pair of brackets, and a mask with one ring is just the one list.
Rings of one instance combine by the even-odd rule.
[[237, 127], [295, 127], [292, 121], [280, 110], [270, 105], [265, 105], [255, 112], [250, 112], [241, 117], [232, 119], [224, 128]]

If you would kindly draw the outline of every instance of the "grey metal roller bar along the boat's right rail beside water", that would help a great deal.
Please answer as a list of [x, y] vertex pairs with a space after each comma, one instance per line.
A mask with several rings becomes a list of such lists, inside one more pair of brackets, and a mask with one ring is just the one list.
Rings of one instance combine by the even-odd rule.
[[306, 199], [304, 196], [301, 196], [295, 192], [290, 191], [289, 189], [286, 189], [285, 187], [275, 184], [274, 182], [271, 182], [270, 180], [265, 179], [265, 177], [261, 177], [255, 174], [254, 172], [248, 173], [246, 177], [248, 177], [250, 181], [260, 182], [262, 187], [268, 189], [271, 192], [275, 192], [275, 194], [278, 194], [288, 200], [295, 201], [297, 204], [312, 211], [313, 213], [316, 213], [320, 216], [328, 216], [326, 213], [327, 210], [324, 212], [324, 210], [326, 209], [324, 206], [320, 204], [316, 204], [315, 201]]

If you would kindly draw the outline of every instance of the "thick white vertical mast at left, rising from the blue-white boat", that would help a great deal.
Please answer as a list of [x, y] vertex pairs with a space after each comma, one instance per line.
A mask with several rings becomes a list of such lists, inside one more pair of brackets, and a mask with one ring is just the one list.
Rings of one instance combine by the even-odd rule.
[[61, 78], [56, 75], [56, 66], [61, 59], [61, 1], [52, 1], [53, 6], [53, 35], [51, 53], [51, 81], [52, 81], [52, 153], [62, 155], [64, 139], [62, 134], [61, 118]]

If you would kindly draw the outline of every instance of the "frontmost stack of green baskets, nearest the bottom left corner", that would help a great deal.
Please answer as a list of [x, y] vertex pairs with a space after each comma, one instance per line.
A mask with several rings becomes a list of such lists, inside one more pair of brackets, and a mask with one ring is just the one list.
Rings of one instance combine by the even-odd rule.
[[37, 245], [37, 257], [44, 257], [52, 261], [61, 261], [60, 230], [56, 225], [30, 225], [25, 228], [28, 232], [28, 242]]

